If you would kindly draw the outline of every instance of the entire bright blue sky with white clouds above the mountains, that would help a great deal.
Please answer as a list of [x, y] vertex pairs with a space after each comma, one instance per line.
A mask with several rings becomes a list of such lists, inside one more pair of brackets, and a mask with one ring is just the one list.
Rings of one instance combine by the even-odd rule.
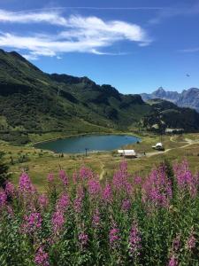
[[198, 0], [0, 1], [1, 48], [123, 93], [199, 87], [198, 27]]

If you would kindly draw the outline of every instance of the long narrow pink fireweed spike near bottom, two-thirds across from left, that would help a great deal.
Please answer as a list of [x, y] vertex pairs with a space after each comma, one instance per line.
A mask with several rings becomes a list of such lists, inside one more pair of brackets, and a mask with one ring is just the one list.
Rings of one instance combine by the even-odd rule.
[[132, 255], [139, 255], [141, 250], [141, 236], [138, 230], [137, 223], [132, 225], [129, 235], [129, 250]]

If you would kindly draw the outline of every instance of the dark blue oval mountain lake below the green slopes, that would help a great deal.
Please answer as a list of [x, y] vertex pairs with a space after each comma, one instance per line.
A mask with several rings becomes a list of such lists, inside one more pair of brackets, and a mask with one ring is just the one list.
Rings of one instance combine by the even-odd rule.
[[88, 153], [93, 153], [122, 148], [138, 140], [140, 139], [137, 137], [127, 135], [87, 135], [43, 142], [35, 145], [35, 147], [56, 153], [85, 153], [85, 149], [88, 149]]

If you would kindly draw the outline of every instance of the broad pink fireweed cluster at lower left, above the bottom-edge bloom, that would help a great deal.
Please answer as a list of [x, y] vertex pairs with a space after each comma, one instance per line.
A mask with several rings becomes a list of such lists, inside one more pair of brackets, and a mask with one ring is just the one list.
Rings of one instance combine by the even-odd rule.
[[40, 213], [32, 213], [24, 216], [24, 223], [22, 224], [22, 231], [25, 233], [32, 233], [42, 227], [42, 216]]

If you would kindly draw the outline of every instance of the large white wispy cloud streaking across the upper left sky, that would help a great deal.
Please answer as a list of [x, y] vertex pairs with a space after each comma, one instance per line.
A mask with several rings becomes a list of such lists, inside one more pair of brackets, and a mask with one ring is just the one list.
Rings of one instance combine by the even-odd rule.
[[[89, 52], [98, 55], [114, 54], [103, 51], [116, 42], [129, 41], [146, 46], [151, 39], [139, 25], [120, 20], [105, 21], [97, 17], [70, 16], [59, 12], [14, 12], [0, 11], [2, 23], [48, 23], [57, 26], [56, 34], [23, 35], [1, 32], [0, 46], [19, 49], [27, 59], [39, 56], [58, 56], [65, 52]], [[61, 27], [61, 28], [60, 28]], [[124, 54], [124, 53], [119, 53]]]

